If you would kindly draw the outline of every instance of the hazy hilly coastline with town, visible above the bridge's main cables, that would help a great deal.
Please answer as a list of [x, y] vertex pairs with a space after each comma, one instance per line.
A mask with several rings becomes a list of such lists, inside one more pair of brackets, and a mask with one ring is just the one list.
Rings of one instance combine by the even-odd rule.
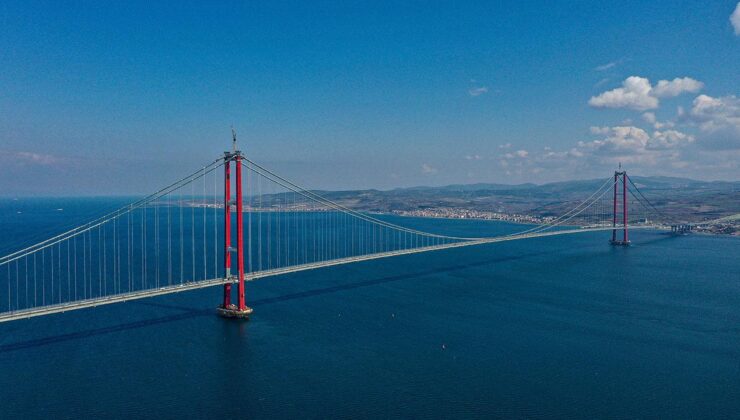
[[[604, 179], [548, 184], [455, 184], [392, 190], [316, 191], [348, 207], [371, 212], [454, 208], [552, 216], [596, 191]], [[674, 177], [632, 177], [662, 212], [678, 220], [700, 221], [740, 213], [740, 181], [698, 181]]]

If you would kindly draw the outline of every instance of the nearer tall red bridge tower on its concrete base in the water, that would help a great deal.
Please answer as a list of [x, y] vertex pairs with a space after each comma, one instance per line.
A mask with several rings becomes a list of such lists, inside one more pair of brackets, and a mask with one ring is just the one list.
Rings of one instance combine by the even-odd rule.
[[[236, 145], [236, 136], [234, 136]], [[236, 197], [231, 200], [231, 162], [236, 165]], [[223, 303], [217, 308], [225, 318], [247, 319], [252, 308], [244, 297], [244, 208], [242, 196], [242, 153], [239, 150], [224, 153], [224, 284]], [[236, 204], [236, 248], [231, 246], [231, 206]], [[236, 276], [231, 274], [231, 253], [236, 252]], [[231, 284], [237, 284], [237, 303], [231, 303]]]

